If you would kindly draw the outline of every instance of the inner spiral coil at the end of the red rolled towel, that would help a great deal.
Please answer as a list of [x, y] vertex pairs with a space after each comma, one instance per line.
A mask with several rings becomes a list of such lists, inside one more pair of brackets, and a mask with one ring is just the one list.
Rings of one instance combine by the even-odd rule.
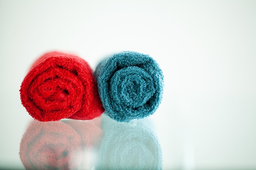
[[[81, 106], [83, 85], [73, 73], [63, 68], [50, 68], [31, 83], [31, 98], [44, 110]], [[80, 106], [76, 106], [80, 108]]]

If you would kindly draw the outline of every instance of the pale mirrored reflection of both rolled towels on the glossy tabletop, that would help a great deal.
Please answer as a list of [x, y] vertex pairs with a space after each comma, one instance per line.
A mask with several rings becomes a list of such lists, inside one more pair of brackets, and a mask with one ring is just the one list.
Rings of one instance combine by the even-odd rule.
[[32, 121], [20, 141], [25, 169], [162, 169], [162, 149], [146, 120], [117, 123], [103, 114], [90, 121]]

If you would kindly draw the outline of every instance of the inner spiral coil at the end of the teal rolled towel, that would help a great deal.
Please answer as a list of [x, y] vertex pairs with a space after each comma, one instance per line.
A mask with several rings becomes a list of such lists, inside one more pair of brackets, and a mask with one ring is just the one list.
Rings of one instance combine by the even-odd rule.
[[143, 106], [155, 93], [152, 77], [137, 66], [116, 71], [110, 84], [110, 97], [135, 110]]

